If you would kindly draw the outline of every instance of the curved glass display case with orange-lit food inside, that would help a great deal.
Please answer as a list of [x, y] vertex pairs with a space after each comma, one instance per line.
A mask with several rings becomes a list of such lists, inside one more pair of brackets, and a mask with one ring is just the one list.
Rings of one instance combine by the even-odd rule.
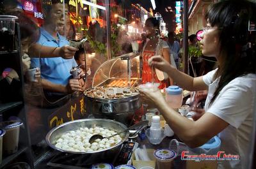
[[110, 59], [95, 71], [92, 87], [135, 87], [141, 82], [140, 65], [140, 54], [129, 53]]

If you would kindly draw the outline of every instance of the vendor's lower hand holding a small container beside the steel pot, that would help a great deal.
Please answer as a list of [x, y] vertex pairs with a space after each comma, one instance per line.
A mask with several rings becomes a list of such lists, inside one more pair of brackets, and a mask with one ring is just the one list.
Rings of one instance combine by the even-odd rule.
[[148, 105], [148, 108], [154, 107], [156, 108], [159, 103], [165, 101], [163, 95], [161, 94], [160, 90], [157, 91], [148, 91], [148, 90], [140, 90], [140, 98], [142, 103]]

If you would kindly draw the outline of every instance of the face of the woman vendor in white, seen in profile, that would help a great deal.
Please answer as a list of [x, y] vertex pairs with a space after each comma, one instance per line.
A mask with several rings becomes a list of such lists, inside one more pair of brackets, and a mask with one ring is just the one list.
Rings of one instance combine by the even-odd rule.
[[219, 29], [207, 23], [204, 33], [201, 34], [200, 48], [205, 56], [217, 57], [220, 54]]

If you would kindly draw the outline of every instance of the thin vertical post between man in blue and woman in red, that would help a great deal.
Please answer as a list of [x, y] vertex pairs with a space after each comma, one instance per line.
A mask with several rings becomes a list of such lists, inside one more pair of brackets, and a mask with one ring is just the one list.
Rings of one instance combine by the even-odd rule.
[[111, 59], [111, 18], [110, 18], [110, 0], [106, 3], [106, 20], [107, 20], [107, 57]]

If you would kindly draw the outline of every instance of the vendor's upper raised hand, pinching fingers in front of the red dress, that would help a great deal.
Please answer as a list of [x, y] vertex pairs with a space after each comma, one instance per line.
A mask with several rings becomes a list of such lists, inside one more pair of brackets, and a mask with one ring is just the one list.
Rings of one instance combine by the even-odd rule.
[[168, 72], [172, 65], [167, 62], [161, 55], [154, 55], [148, 59], [148, 65], [157, 68], [158, 70]]

